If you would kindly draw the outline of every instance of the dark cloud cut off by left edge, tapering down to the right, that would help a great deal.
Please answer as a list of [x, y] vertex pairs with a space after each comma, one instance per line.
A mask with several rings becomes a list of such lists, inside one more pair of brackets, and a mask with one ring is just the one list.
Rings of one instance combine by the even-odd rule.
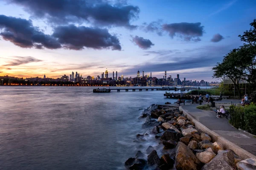
[[39, 31], [31, 20], [0, 15], [0, 36], [4, 40], [22, 48], [31, 48], [40, 44], [45, 48], [61, 48], [61, 44], [51, 36]]

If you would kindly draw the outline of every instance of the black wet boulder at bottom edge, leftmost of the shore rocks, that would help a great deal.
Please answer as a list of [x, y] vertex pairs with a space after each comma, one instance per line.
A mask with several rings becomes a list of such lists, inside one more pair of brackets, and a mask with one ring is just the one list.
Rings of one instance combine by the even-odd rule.
[[141, 158], [129, 158], [125, 161], [125, 167], [130, 170], [142, 170], [144, 169], [146, 162], [145, 159]]

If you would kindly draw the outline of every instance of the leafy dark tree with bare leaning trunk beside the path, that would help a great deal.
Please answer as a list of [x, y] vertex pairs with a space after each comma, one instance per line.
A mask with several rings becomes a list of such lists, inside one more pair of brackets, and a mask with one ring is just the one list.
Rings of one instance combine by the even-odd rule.
[[221, 63], [218, 62], [217, 65], [212, 68], [214, 72], [212, 77], [222, 78], [226, 76], [230, 78], [238, 91], [239, 97], [241, 98], [239, 81], [244, 75], [246, 64], [243, 62], [242, 57], [239, 55], [241, 53], [240, 50], [241, 48], [233, 49], [224, 57]]

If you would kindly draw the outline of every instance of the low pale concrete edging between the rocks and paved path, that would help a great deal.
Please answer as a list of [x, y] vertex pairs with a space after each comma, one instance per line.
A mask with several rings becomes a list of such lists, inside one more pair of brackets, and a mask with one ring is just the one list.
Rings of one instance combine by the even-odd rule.
[[239, 156], [241, 159], [247, 159], [247, 158], [254, 158], [256, 159], [256, 156], [253, 154], [247, 152], [243, 148], [237, 146], [236, 144], [230, 142], [229, 140], [225, 139], [224, 137], [220, 136], [219, 134], [215, 133], [214, 131], [210, 130], [200, 122], [198, 122], [195, 118], [193, 118], [187, 111], [183, 110], [182, 106], [179, 107], [180, 111], [183, 111], [183, 113], [188, 117], [188, 119], [195, 123], [195, 128], [197, 130], [201, 130], [204, 133], [207, 133], [211, 138], [212, 142], [220, 142], [224, 149], [230, 149], [233, 150], [237, 156]]

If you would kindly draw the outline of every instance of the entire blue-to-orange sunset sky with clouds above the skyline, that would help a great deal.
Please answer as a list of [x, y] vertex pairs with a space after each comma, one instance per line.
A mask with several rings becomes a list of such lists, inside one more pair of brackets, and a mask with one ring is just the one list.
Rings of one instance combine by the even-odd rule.
[[216, 81], [255, 18], [255, 0], [0, 0], [0, 75]]

